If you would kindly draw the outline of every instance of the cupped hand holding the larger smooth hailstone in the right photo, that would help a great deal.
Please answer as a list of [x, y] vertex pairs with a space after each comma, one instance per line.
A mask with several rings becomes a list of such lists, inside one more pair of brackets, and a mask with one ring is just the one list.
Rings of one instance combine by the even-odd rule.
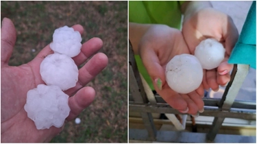
[[[141, 38], [138, 45], [140, 58], [154, 83], [157, 93], [167, 103], [183, 113], [197, 115], [204, 108], [203, 86], [188, 94], [179, 94], [173, 91], [165, 80], [166, 65], [176, 55], [190, 53], [182, 33], [166, 25], [153, 25]], [[156, 84], [161, 80], [161, 86]]]

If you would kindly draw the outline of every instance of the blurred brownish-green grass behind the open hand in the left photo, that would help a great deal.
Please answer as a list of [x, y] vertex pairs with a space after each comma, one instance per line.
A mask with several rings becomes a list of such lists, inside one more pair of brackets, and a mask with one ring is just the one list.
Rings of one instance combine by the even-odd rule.
[[51, 142], [127, 143], [127, 1], [1, 1], [4, 17], [17, 32], [12, 66], [32, 60], [64, 25], [82, 25], [82, 43], [103, 40], [108, 67], [87, 84], [95, 101], [78, 116], [81, 123], [69, 121]]

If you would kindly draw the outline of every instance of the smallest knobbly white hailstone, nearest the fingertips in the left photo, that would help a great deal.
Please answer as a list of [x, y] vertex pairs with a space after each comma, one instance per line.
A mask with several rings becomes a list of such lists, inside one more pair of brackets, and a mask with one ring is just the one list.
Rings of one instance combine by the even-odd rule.
[[77, 56], [82, 47], [82, 37], [72, 27], [60, 27], [53, 33], [53, 43], [50, 44], [54, 52], [65, 54], [71, 58]]

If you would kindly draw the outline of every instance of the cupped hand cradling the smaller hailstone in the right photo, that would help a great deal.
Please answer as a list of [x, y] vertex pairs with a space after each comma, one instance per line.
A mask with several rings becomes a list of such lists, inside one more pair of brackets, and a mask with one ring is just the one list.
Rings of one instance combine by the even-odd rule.
[[202, 82], [204, 89], [218, 91], [219, 85], [230, 81], [229, 71], [233, 68], [232, 64], [228, 64], [228, 58], [238, 39], [238, 31], [232, 19], [214, 8], [204, 8], [184, 19], [182, 34], [192, 54], [201, 40], [206, 38], [215, 38], [225, 47], [225, 59], [216, 69], [204, 70]]

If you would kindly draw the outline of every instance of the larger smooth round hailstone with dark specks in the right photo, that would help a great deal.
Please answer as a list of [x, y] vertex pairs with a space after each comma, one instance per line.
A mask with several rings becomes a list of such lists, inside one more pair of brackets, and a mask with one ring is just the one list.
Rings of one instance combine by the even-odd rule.
[[166, 66], [166, 81], [177, 93], [195, 91], [200, 86], [203, 76], [199, 60], [190, 54], [174, 56]]

